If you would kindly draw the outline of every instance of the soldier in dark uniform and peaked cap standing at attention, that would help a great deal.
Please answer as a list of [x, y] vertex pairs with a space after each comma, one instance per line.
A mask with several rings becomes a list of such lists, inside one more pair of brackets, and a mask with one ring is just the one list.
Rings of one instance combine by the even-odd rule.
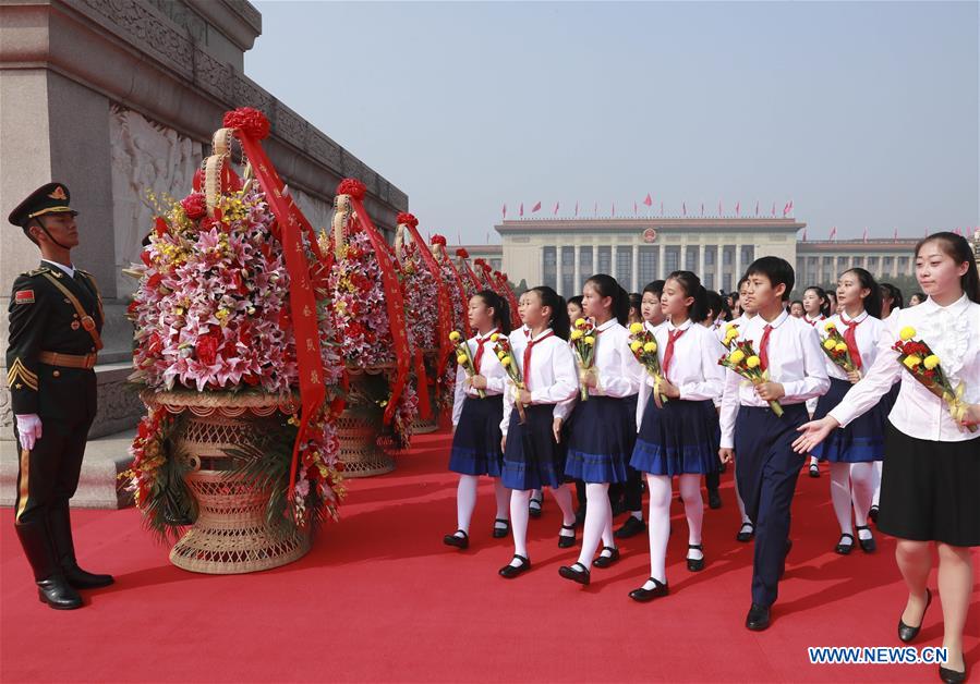
[[43, 257], [17, 277], [10, 297], [7, 381], [20, 443], [15, 526], [40, 600], [62, 610], [82, 606], [77, 589], [112, 584], [110, 575], [78, 567], [72, 542], [69, 500], [95, 418], [93, 368], [104, 317], [95, 279], [72, 265], [78, 230], [70, 199], [63, 184], [48, 183], [9, 219]]

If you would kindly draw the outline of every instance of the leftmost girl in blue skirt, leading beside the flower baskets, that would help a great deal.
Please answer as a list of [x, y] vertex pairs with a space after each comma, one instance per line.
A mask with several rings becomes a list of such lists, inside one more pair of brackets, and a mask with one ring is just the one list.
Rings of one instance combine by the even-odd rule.
[[[456, 493], [457, 525], [443, 542], [458, 549], [470, 546], [470, 518], [476, 505], [476, 485], [481, 475], [494, 478], [497, 517], [494, 537], [506, 537], [509, 527], [510, 492], [500, 483], [504, 454], [500, 451], [500, 420], [504, 417], [504, 382], [507, 371], [494, 354], [491, 335], [510, 331], [506, 300], [483, 290], [470, 297], [470, 327], [476, 334], [469, 340], [476, 374], [468, 378], [462, 366], [456, 371], [456, 401], [452, 404], [452, 451], [449, 469], [459, 473]], [[477, 390], [486, 395], [481, 399]]]

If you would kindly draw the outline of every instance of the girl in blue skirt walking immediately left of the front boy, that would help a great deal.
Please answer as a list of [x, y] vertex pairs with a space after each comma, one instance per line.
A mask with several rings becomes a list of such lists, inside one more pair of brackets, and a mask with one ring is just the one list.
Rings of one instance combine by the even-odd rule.
[[[650, 492], [651, 571], [646, 583], [630, 591], [630, 598], [637, 601], [668, 594], [665, 566], [675, 475], [688, 521], [688, 570], [704, 569], [701, 476], [718, 472], [715, 401], [721, 400], [724, 383], [718, 365], [724, 347], [713, 331], [698, 325], [706, 314], [706, 300], [701, 281], [690, 271], [670, 273], [661, 297], [667, 322], [655, 337], [664, 381], [646, 402], [630, 461], [634, 468], [646, 473]], [[645, 381], [654, 383], [649, 374]], [[662, 396], [667, 398], [666, 404]]]

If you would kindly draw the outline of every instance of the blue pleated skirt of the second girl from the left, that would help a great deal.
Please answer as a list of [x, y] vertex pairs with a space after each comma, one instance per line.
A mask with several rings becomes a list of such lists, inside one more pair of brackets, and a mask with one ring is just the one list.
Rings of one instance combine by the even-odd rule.
[[517, 410], [510, 413], [500, 476], [505, 487], [528, 490], [565, 483], [565, 449], [555, 442], [554, 413], [554, 404], [524, 406], [528, 419], [523, 425]]

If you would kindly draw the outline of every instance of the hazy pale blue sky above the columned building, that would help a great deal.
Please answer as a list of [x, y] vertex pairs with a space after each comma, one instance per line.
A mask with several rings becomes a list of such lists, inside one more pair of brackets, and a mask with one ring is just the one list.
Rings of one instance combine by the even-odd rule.
[[646, 193], [793, 199], [811, 240], [980, 224], [977, 2], [255, 4], [246, 74], [450, 241]]

